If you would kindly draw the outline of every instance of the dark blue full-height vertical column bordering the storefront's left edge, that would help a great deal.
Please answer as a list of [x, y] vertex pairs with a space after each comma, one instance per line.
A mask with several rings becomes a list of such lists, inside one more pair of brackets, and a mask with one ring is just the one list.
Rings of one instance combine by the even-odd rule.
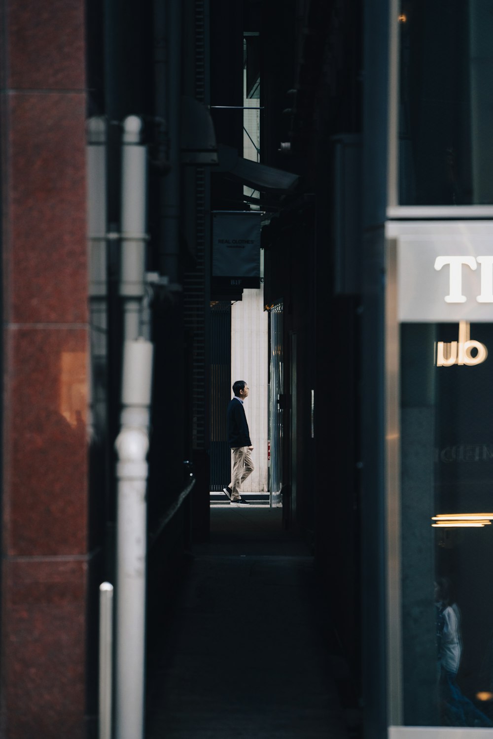
[[388, 205], [389, 94], [391, 24], [397, 23], [397, 0], [363, 4], [365, 70], [363, 100], [363, 240], [361, 253], [361, 692], [364, 734], [387, 737], [387, 517], [385, 497], [385, 296], [384, 221]]

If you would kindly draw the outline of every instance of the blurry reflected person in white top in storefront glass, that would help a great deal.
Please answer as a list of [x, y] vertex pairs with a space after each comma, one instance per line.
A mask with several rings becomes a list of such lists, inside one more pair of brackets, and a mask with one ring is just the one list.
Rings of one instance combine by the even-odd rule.
[[460, 611], [452, 598], [450, 580], [435, 582], [437, 619], [438, 696], [443, 726], [493, 726], [493, 722], [460, 691], [457, 673], [462, 654]]

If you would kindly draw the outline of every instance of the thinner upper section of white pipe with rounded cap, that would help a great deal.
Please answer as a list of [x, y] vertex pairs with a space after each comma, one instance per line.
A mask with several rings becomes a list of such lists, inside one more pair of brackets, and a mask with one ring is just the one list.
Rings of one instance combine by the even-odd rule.
[[123, 121], [121, 185], [121, 271], [123, 332], [132, 340], [140, 334], [140, 307], [146, 267], [147, 155], [140, 143], [143, 121], [129, 115]]

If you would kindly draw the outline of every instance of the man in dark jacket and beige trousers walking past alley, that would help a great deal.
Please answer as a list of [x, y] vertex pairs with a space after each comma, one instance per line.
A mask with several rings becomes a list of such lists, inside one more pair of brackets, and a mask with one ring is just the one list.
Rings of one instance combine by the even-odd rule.
[[228, 443], [231, 446], [231, 483], [227, 488], [222, 488], [231, 500], [230, 505], [250, 505], [239, 494], [239, 488], [254, 471], [254, 463], [251, 460], [251, 445], [248, 423], [243, 408], [243, 401], [248, 398], [248, 385], [245, 380], [237, 380], [233, 385], [234, 398], [229, 401], [228, 415], [226, 417], [228, 426]]

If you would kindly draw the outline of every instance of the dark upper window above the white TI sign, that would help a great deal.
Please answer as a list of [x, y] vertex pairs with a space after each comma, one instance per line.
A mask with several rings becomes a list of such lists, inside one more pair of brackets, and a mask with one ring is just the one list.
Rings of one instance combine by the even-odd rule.
[[493, 4], [402, 0], [400, 205], [493, 203]]

